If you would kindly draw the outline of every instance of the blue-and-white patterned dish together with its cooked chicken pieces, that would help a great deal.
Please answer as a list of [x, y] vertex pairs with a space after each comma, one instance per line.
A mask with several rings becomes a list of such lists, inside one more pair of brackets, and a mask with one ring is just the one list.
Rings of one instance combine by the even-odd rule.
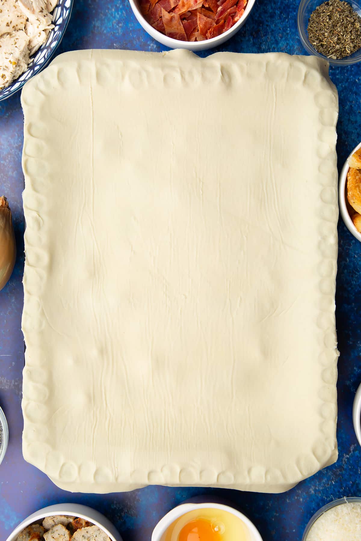
[[49, 63], [61, 43], [73, 0], [1, 0], [0, 101]]

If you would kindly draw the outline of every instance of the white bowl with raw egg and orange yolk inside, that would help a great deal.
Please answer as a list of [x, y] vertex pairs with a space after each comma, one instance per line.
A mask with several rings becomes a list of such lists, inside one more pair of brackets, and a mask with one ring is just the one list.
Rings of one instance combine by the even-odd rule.
[[[219, 532], [222, 533], [222, 539], [225, 538], [225, 541], [228, 541], [225, 534], [227, 533], [227, 514], [229, 513], [232, 522], [232, 524], [229, 524], [229, 528], [232, 530], [229, 539], [232, 539], [232, 541], [236, 538], [238, 541], [262, 541], [257, 528], [243, 513], [230, 505], [212, 502], [209, 498], [202, 496], [187, 500], [187, 502], [169, 511], [155, 526], [151, 541], [179, 541], [180, 534], [186, 535], [183, 528], [189, 524], [194, 524], [197, 527], [199, 520], [204, 520], [204, 517], [211, 517], [209, 511], [212, 512], [212, 518], [215, 520], [211, 523], [211, 519], [206, 518], [211, 526], [208, 536], [212, 536], [212, 532], [214, 532], [214, 539], [218, 539], [219, 534], [217, 532]], [[195, 532], [195, 535], [197, 533], [194, 530], [190, 531]], [[212, 539], [212, 537], [209, 537], [209, 539]]]

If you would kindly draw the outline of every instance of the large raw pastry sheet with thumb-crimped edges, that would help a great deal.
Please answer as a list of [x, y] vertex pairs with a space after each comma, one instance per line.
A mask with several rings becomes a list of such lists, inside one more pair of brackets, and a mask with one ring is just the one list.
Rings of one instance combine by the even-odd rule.
[[78, 51], [22, 105], [25, 459], [84, 492], [281, 492], [333, 463], [327, 64]]

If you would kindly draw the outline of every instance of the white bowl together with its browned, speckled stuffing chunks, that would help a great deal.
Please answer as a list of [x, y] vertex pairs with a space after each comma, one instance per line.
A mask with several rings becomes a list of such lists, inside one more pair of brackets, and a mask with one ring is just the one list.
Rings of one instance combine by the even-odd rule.
[[17, 526], [6, 541], [122, 541], [103, 514], [78, 504], [44, 507]]

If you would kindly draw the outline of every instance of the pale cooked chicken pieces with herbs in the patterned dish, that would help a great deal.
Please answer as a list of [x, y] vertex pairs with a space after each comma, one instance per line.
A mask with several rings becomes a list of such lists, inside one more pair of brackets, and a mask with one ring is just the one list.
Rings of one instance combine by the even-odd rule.
[[58, 0], [0, 0], [0, 90], [27, 68], [54, 28]]

